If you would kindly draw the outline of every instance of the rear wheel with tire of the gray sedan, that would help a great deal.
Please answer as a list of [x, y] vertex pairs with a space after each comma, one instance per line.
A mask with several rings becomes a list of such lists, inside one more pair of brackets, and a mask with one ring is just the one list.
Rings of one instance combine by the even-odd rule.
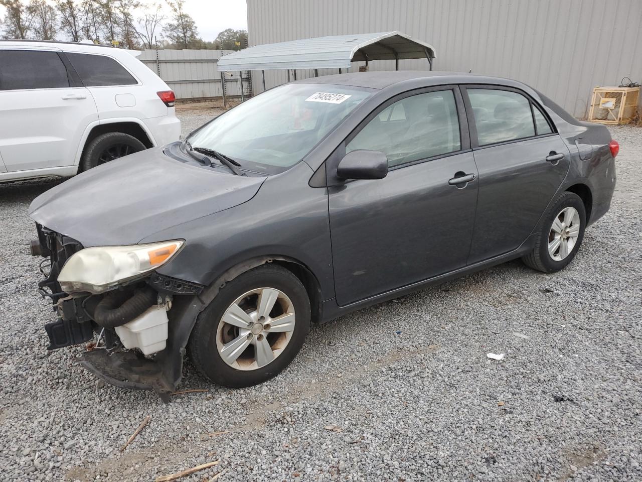
[[[574, 213], [577, 213], [577, 217], [574, 216]], [[571, 216], [571, 222], [567, 224]], [[556, 220], [559, 223], [556, 222], [555, 229], [553, 229], [553, 222]], [[560, 226], [564, 226], [563, 231], [566, 233], [566, 238], [557, 233], [556, 229], [559, 229]], [[577, 237], [571, 244], [570, 241], [576, 229]], [[561, 193], [551, 207], [548, 208], [544, 217], [542, 217], [539, 233], [535, 239], [535, 247], [531, 253], [522, 258], [523, 262], [527, 266], [542, 272], [556, 272], [564, 269], [575, 258], [577, 250], [580, 249], [584, 239], [584, 229], [586, 229], [584, 202], [575, 193]], [[559, 247], [555, 249], [554, 243], [557, 242], [558, 236], [560, 237], [560, 243]], [[552, 254], [550, 249], [553, 251]]]

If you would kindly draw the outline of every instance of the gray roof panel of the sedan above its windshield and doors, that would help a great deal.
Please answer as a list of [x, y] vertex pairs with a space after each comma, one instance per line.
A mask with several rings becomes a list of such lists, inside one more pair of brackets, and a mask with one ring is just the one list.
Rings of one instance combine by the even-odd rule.
[[517, 82], [516, 80], [510, 80], [507, 78], [491, 77], [463, 72], [417, 70], [351, 72], [347, 74], [324, 75], [320, 77], [297, 80], [297, 83], [351, 85], [352, 87], [366, 87], [369, 89], [380, 90], [409, 80], [423, 81], [421, 83], [426, 86], [443, 84], [494, 84], [506, 85], [507, 87], [526, 87], [526, 85], [521, 84], [521, 82]]

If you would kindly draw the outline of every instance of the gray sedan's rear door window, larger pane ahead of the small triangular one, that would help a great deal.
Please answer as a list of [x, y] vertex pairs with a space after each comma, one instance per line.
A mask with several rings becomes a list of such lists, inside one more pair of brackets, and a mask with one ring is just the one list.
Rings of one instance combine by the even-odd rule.
[[480, 146], [535, 136], [530, 101], [512, 91], [467, 89]]

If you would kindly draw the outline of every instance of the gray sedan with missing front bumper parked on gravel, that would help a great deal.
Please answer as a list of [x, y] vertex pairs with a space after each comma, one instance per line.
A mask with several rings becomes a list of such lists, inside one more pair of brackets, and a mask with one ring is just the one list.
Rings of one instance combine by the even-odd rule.
[[520, 82], [324, 76], [260, 94], [185, 141], [31, 204], [49, 349], [168, 399], [184, 354], [263, 382], [311, 323], [522, 258], [568, 265], [609, 209], [618, 143]]

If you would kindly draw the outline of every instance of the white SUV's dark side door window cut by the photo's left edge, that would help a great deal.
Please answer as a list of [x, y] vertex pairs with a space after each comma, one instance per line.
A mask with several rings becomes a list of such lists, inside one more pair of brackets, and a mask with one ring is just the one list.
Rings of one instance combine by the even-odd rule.
[[0, 91], [69, 87], [67, 69], [55, 52], [0, 50]]

